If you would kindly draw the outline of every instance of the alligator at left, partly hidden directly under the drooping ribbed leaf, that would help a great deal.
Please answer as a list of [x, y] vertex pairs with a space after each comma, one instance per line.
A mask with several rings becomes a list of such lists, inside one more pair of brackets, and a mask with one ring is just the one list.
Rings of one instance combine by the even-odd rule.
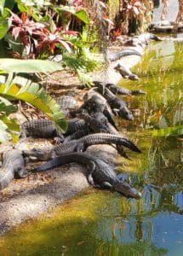
[[49, 119], [32, 119], [26, 121], [21, 126], [20, 137], [55, 137], [57, 142], [63, 142], [64, 136], [54, 122]]

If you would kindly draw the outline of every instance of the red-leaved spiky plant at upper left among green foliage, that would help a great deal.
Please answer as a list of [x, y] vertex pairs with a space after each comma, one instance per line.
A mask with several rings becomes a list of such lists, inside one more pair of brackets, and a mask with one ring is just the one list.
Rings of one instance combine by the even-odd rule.
[[[77, 35], [77, 32], [61, 31], [60, 27], [57, 27], [54, 32], [50, 32], [46, 24], [31, 20], [25, 13], [21, 14], [21, 17], [12, 13], [10, 32], [15, 41], [17, 38], [20, 39], [20, 44], [23, 44], [29, 59], [41, 56], [45, 51], [53, 55], [57, 45], [71, 53], [72, 44], [63, 36], [66, 34]], [[22, 53], [25, 54], [24, 49]]]

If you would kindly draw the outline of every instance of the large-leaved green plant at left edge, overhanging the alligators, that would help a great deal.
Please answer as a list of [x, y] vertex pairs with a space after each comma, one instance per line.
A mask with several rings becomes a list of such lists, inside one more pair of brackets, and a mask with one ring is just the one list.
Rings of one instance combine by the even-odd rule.
[[[3, 68], [6, 72], [19, 70], [20, 73], [47, 72], [50, 68], [52, 71], [62, 69], [59, 64], [51, 61], [1, 59], [0, 69]], [[1, 73], [3, 74], [0, 75], [0, 143], [10, 138], [14, 143], [18, 140], [16, 134], [20, 129], [19, 124], [17, 120], [9, 118], [10, 113], [17, 111], [17, 105], [12, 103], [14, 100], [28, 102], [42, 110], [62, 131], [66, 131], [66, 119], [61, 113], [60, 106], [46, 94], [40, 84], [13, 73], [7, 74], [2, 70]]]

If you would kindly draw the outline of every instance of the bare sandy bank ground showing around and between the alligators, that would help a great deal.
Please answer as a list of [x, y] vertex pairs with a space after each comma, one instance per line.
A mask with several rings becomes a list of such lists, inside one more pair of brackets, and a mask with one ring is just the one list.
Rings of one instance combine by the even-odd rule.
[[[142, 51], [142, 49], [140, 50]], [[126, 56], [120, 60], [126, 67], [132, 67], [138, 61], [140, 61], [140, 57], [137, 55]], [[113, 69], [117, 62], [115, 61], [115, 63], [109, 65], [103, 73], [93, 73], [91, 75], [95, 80], [103, 79], [105, 82], [117, 84], [121, 79], [121, 75]], [[47, 90], [54, 90], [54, 96], [74, 95], [77, 96], [78, 106], [82, 103], [83, 94], [86, 90], [78, 90], [76, 88], [79, 80], [73, 73], [66, 71], [61, 74], [55, 73], [54, 79], [50, 77], [45, 77], [45, 79], [44, 84], [48, 84]], [[20, 112], [16, 113], [16, 118], [24, 120]], [[29, 148], [35, 146], [39, 148], [41, 146], [50, 147], [52, 142], [41, 139], [37, 141], [31, 140], [28, 145]], [[11, 143], [2, 144], [0, 153], [7, 148], [11, 148], [11, 146]], [[94, 148], [94, 146], [92, 147]], [[92, 147], [89, 150], [96, 152], [96, 148], [91, 149]], [[27, 148], [26, 143], [25, 148]], [[116, 151], [111, 146], [99, 145], [97, 149], [107, 152], [109, 159], [115, 159]], [[34, 165], [35, 163], [32, 163], [28, 168]], [[86, 172], [87, 170], [84, 166], [69, 164], [48, 172], [31, 174], [30, 177], [14, 179], [7, 189], [0, 191], [0, 235], [3, 235], [11, 227], [25, 222], [29, 218], [36, 218], [39, 214], [54, 208], [83, 189], [87, 189], [89, 183], [86, 179]]]

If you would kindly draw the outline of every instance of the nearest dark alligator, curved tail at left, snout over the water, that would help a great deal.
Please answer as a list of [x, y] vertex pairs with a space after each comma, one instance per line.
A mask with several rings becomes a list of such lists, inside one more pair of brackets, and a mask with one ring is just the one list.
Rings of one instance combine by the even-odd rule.
[[87, 178], [91, 185], [102, 189], [112, 189], [129, 197], [141, 197], [141, 193], [137, 189], [132, 188], [129, 183], [120, 180], [117, 177], [117, 173], [105, 161], [86, 153], [71, 153], [56, 157], [41, 166], [37, 166], [31, 172], [46, 171], [71, 162], [77, 162], [88, 167], [89, 174]]

